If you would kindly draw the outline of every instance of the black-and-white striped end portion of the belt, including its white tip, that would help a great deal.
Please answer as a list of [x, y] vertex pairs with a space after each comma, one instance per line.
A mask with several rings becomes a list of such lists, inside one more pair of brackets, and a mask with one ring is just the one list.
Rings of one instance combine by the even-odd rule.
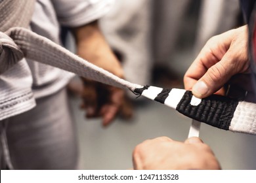
[[[144, 86], [135, 90], [154, 101], [175, 108], [181, 114], [220, 129], [256, 135], [256, 104], [221, 95], [197, 99], [192, 92]], [[197, 99], [196, 102], [194, 99]]]

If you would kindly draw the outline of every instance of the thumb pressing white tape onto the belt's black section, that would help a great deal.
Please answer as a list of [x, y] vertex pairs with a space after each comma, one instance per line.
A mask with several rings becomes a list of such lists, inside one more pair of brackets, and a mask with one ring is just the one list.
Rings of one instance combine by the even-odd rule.
[[208, 97], [220, 90], [230, 80], [232, 69], [229, 67], [230, 65], [223, 63], [224, 61], [219, 61], [207, 70], [205, 75], [192, 87], [193, 95], [198, 98]]

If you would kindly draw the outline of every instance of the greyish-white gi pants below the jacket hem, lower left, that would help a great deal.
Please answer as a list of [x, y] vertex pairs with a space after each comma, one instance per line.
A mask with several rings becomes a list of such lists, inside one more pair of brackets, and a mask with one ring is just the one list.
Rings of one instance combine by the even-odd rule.
[[77, 169], [77, 141], [66, 90], [37, 99], [0, 122], [1, 169]]

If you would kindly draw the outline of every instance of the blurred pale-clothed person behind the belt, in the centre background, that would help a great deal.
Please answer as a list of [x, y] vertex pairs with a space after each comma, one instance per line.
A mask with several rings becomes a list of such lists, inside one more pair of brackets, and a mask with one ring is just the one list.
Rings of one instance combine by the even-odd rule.
[[[190, 0], [116, 1], [100, 20], [100, 27], [120, 59], [125, 78], [150, 84], [155, 67], [166, 70]], [[164, 64], [163, 64], [164, 63]], [[158, 68], [156, 68], [158, 69]], [[165, 73], [166, 74], [166, 73]]]

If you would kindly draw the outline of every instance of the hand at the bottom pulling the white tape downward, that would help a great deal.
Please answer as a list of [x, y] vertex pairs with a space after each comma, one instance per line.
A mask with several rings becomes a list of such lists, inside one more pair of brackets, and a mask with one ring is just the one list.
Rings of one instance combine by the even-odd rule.
[[137, 145], [134, 169], [221, 169], [211, 148], [197, 138], [178, 142], [158, 137]]

